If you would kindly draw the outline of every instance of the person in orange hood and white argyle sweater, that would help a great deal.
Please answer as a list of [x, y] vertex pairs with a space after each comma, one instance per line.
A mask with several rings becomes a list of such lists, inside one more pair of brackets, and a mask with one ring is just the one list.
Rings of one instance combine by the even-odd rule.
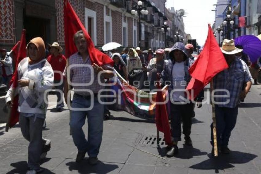
[[[43, 171], [40, 160], [50, 150], [50, 140], [42, 137], [42, 126], [48, 103], [45, 91], [52, 88], [53, 69], [45, 59], [45, 44], [42, 38], [33, 38], [26, 46], [27, 55], [18, 64], [18, 112], [22, 135], [28, 140], [27, 174]], [[6, 94], [6, 103], [12, 106], [12, 86]]]

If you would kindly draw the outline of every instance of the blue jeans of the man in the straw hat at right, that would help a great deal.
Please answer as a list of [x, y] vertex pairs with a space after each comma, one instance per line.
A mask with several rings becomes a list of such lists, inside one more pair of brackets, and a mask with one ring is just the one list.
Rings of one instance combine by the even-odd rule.
[[[216, 139], [219, 147], [228, 146], [231, 131], [236, 125], [238, 106], [235, 108], [218, 107], [216, 110]], [[211, 124], [211, 144], [213, 145], [213, 123]]]

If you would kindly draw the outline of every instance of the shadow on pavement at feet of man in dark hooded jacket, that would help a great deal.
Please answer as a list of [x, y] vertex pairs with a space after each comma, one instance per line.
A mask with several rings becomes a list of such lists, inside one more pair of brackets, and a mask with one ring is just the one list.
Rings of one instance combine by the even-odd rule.
[[[160, 148], [158, 146], [158, 152], [161, 157], [165, 157], [167, 153], [167, 148]], [[193, 146], [186, 146], [183, 144], [183, 148], [178, 149], [178, 154], [175, 155], [175, 158], [180, 158], [180, 159], [191, 159], [194, 156], [201, 156], [201, 155], [206, 155], [208, 154], [207, 152], [201, 152], [197, 148], [193, 148]]]

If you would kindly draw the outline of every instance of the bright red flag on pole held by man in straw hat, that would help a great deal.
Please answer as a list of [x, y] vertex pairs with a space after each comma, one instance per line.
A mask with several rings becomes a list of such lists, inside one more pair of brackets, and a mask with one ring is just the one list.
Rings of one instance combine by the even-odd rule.
[[189, 69], [192, 77], [186, 88], [190, 93], [189, 99], [195, 99], [217, 73], [227, 68], [228, 64], [225, 57], [208, 24], [208, 37], [205, 46], [195, 63]]

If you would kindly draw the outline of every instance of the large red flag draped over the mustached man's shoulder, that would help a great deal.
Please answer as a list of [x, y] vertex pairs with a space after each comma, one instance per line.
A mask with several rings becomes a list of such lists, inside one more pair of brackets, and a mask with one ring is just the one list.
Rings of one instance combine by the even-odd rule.
[[64, 42], [65, 42], [65, 57], [69, 58], [72, 54], [78, 50], [74, 44], [74, 34], [82, 30], [84, 32], [85, 39], [87, 41], [88, 52], [92, 63], [96, 63], [99, 66], [110, 64], [114, 65], [114, 61], [106, 54], [100, 52], [94, 47], [92, 39], [86, 31], [84, 25], [81, 23], [79, 17], [73, 10], [68, 0], [64, 0]]

